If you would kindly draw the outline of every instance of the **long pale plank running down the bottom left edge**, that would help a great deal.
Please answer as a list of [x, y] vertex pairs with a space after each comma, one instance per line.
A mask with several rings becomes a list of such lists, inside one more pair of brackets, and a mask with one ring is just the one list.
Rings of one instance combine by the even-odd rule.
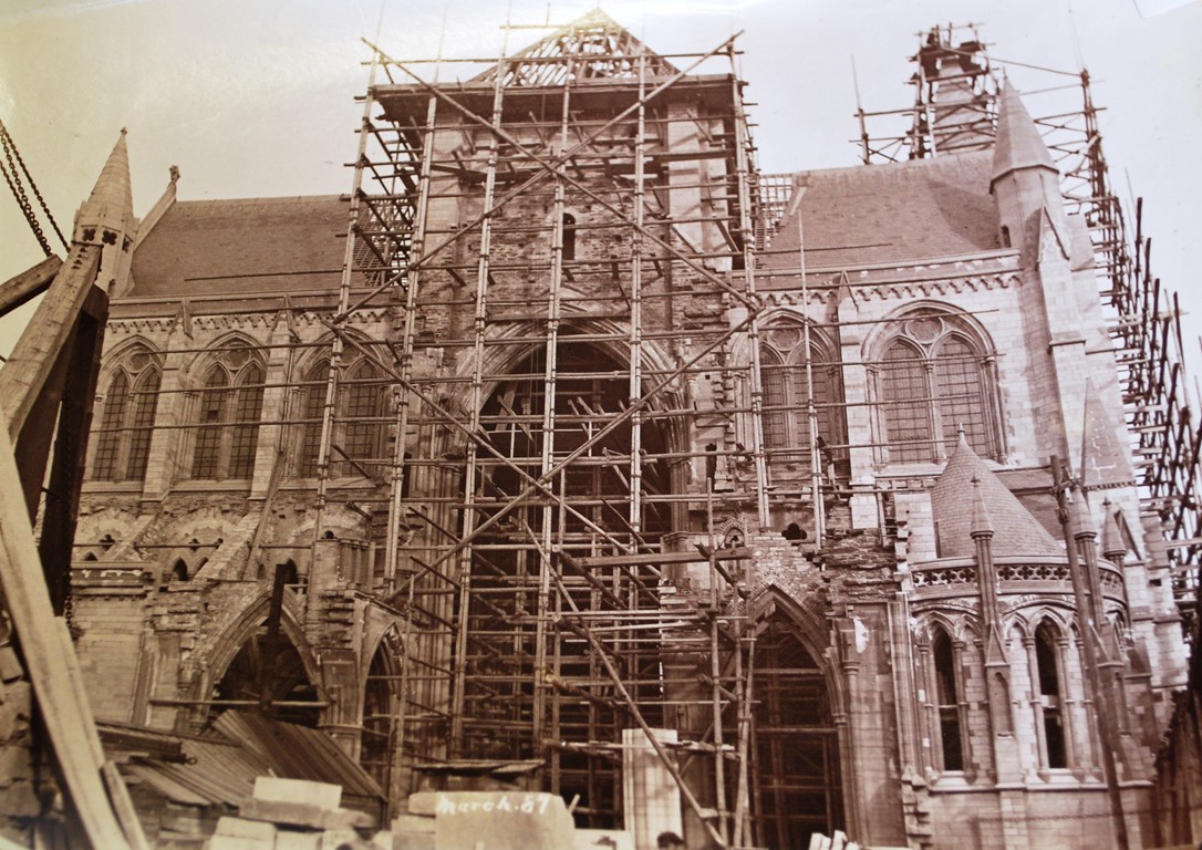
[[[90, 263], [93, 267], [94, 262]], [[90, 283], [89, 283], [90, 285]], [[54, 748], [63, 791], [96, 850], [129, 848], [101, 777], [95, 720], [77, 691], [75, 647], [54, 616], [7, 430], [0, 428], [0, 592], [20, 640], [37, 708]]]

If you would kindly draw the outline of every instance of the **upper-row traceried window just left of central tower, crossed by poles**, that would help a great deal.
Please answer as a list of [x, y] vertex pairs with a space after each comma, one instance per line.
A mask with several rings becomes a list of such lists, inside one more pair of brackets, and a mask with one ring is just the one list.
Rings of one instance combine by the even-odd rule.
[[[338, 381], [328, 462], [332, 475], [379, 475], [386, 465], [385, 434], [388, 424], [388, 388], [379, 369], [361, 359], [349, 365]], [[300, 391], [300, 426], [293, 471], [317, 475], [321, 423], [326, 406], [329, 362], [315, 363], [305, 373]]]

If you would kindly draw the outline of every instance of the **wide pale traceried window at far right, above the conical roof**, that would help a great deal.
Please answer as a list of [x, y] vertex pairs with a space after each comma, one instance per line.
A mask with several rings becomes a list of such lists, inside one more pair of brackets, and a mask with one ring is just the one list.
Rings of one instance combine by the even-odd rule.
[[960, 430], [982, 457], [1000, 459], [993, 347], [966, 317], [915, 310], [888, 328], [870, 369], [886, 462], [941, 462]]

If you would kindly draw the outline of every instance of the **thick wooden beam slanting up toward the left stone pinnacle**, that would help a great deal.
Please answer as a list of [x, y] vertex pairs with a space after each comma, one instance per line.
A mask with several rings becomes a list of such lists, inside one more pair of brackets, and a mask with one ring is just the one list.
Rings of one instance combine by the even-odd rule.
[[[8, 439], [16, 441], [25, 424], [58, 353], [70, 338], [100, 268], [100, 246], [71, 246], [67, 261], [37, 305], [8, 362], [0, 369], [0, 403], [7, 420]], [[12, 446], [7, 448], [12, 458]]]

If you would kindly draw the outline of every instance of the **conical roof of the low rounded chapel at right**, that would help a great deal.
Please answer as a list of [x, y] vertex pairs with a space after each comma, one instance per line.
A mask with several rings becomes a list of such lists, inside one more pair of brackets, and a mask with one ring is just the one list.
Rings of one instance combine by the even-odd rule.
[[1064, 548], [960, 435], [947, 466], [930, 491], [940, 558], [964, 558], [975, 552], [971, 536], [974, 487], [993, 528], [995, 555], [1064, 554]]

